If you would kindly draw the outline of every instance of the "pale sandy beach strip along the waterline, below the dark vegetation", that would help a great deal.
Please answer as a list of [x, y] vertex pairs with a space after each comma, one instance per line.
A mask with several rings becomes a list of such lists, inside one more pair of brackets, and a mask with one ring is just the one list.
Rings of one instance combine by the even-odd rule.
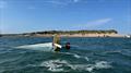
[[[47, 35], [4, 35], [3, 37], [52, 37], [53, 35], [47, 34]], [[60, 37], [126, 37], [126, 35], [120, 35], [120, 34], [64, 34], [60, 35]]]

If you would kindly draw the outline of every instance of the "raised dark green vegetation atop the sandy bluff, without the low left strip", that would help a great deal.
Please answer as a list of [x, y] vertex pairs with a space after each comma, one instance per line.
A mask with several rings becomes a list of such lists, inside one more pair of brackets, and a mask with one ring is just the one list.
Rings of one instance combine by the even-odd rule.
[[35, 32], [35, 33], [29, 33], [31, 35], [35, 35], [35, 34], [69, 34], [69, 35], [73, 35], [73, 34], [117, 34], [118, 32], [115, 29], [109, 29], [109, 31], [45, 31], [45, 32]]

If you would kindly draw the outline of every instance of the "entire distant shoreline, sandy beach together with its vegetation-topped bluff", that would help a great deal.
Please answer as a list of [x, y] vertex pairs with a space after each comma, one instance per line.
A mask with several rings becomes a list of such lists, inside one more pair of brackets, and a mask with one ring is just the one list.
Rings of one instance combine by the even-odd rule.
[[52, 37], [55, 34], [60, 37], [126, 37], [126, 35], [118, 34], [115, 29], [109, 31], [46, 31], [24, 34], [3, 34], [2, 36], [15, 37]]

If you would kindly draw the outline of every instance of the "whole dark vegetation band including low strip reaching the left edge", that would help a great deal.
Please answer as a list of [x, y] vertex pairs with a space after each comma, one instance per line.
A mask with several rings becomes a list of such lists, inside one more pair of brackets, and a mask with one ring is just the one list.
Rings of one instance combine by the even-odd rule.
[[34, 35], [53, 35], [53, 34], [60, 34], [60, 35], [74, 35], [74, 34], [118, 34], [115, 29], [108, 29], [108, 31], [45, 31], [45, 32], [34, 32], [34, 33], [23, 33], [23, 34], [0, 34], [0, 37], [2, 36], [34, 36]]

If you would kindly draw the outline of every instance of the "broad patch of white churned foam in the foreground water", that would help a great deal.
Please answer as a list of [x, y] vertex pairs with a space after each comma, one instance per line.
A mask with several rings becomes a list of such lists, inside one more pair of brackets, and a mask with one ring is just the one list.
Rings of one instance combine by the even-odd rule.
[[[111, 65], [106, 61], [99, 61], [95, 64], [71, 64], [66, 60], [49, 60], [44, 61], [40, 63], [40, 66], [46, 66], [51, 72], [67, 72], [70, 70], [78, 70], [78, 71], [88, 71], [93, 72], [94, 69], [109, 69]], [[67, 70], [64, 66], [69, 66], [70, 69]]]

